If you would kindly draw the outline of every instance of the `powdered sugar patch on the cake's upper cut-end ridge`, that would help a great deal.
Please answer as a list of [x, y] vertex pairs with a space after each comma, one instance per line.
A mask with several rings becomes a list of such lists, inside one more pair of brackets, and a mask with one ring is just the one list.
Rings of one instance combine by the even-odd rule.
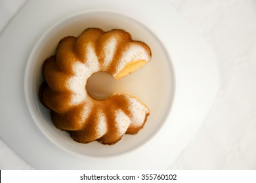
[[116, 76], [128, 63], [139, 60], [150, 61], [150, 55], [140, 45], [132, 44], [131, 46], [127, 46], [127, 50], [123, 52], [118, 62], [116, 73], [113, 76]]

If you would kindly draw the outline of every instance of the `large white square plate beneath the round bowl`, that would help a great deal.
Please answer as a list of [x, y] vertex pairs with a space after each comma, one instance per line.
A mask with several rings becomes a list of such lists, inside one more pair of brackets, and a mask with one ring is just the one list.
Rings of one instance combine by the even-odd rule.
[[[175, 80], [174, 95], [167, 96], [169, 105], [174, 96], [171, 112], [160, 120], [160, 130], [133, 151], [108, 157], [74, 156], [49, 141], [35, 125], [24, 93], [25, 67], [39, 37], [62, 18], [95, 9], [129, 15], [143, 24], [169, 53]], [[28, 1], [2, 32], [0, 48], [1, 138], [37, 169], [165, 169], [196, 133], [217, 91], [213, 54], [167, 1]]]

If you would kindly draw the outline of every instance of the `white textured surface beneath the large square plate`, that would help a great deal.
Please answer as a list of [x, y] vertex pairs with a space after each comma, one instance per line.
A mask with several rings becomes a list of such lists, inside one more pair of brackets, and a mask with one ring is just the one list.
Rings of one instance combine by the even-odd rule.
[[[213, 107], [169, 169], [256, 169], [256, 0], [169, 2], [211, 47], [220, 73]], [[24, 3], [0, 0], [0, 31]], [[0, 169], [33, 167], [0, 139]]]

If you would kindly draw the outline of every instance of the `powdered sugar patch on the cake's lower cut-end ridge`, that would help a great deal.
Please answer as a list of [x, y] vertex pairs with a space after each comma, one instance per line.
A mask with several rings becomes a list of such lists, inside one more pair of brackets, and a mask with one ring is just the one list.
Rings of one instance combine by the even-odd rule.
[[129, 109], [133, 118], [131, 119], [131, 125], [134, 127], [139, 127], [144, 123], [146, 114], [148, 114], [148, 108], [146, 108], [140, 101], [133, 97], [129, 97]]

